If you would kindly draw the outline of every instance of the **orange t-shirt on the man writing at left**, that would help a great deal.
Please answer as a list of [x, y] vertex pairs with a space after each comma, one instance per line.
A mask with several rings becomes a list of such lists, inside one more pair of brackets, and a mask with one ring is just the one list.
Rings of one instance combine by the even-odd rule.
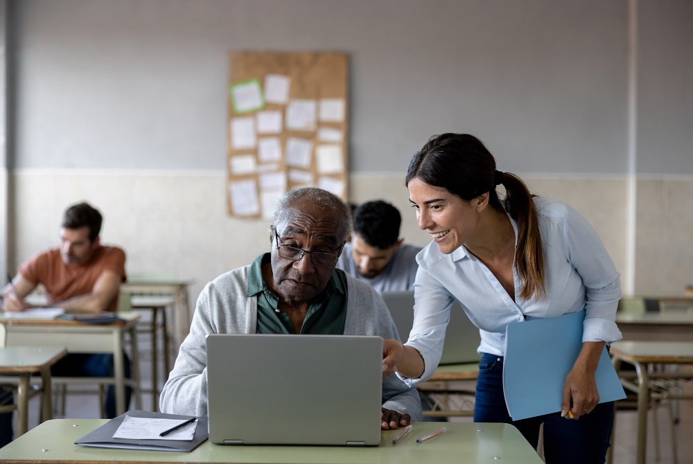
[[[125, 251], [99, 245], [88, 262], [66, 265], [60, 249], [52, 249], [37, 254], [19, 267], [19, 273], [26, 280], [44, 286], [49, 304], [90, 293], [104, 271], [115, 272], [121, 276], [121, 282], [125, 282]], [[117, 307], [118, 294], [104, 310], [115, 312]]]

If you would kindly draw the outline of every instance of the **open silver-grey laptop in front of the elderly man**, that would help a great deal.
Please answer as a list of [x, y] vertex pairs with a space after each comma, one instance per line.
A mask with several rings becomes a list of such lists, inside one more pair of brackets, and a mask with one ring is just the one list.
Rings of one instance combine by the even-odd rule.
[[383, 339], [209, 334], [207, 391], [212, 443], [378, 445]]

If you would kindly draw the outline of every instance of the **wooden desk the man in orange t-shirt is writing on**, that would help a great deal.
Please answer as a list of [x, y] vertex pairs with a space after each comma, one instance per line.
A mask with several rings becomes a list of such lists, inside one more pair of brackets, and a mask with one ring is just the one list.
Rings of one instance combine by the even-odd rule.
[[[18, 319], [0, 315], [0, 323], [7, 327], [8, 346], [64, 346], [68, 353], [111, 353], [114, 378], [84, 377], [84, 382], [114, 384], [116, 387], [116, 413], [122, 414], [125, 405], [125, 384], [134, 390], [136, 409], [141, 409], [139, 385], [139, 356], [137, 353], [136, 325], [139, 314], [121, 313], [124, 322], [87, 324], [64, 319]], [[132, 380], [125, 379], [123, 346], [125, 334], [129, 335], [132, 349]], [[70, 377], [73, 379], [73, 377]], [[60, 377], [55, 383], [60, 382]]]

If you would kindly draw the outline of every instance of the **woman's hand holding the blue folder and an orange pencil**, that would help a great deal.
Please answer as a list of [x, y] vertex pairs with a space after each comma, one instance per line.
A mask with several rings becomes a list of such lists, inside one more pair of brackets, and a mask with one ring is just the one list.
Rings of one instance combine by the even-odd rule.
[[595, 372], [602, 350], [603, 341], [586, 341], [582, 344], [577, 361], [565, 376], [561, 417], [577, 420], [580, 416], [592, 412], [599, 404]]

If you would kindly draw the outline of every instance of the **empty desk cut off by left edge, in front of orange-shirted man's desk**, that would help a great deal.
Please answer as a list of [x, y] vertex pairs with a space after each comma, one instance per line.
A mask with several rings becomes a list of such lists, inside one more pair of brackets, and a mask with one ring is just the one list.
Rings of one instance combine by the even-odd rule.
[[17, 436], [28, 429], [29, 381], [40, 373], [42, 380], [41, 420], [53, 418], [51, 402], [51, 366], [67, 355], [65, 348], [53, 346], [7, 346], [0, 348], [0, 374], [16, 375], [17, 389]]

